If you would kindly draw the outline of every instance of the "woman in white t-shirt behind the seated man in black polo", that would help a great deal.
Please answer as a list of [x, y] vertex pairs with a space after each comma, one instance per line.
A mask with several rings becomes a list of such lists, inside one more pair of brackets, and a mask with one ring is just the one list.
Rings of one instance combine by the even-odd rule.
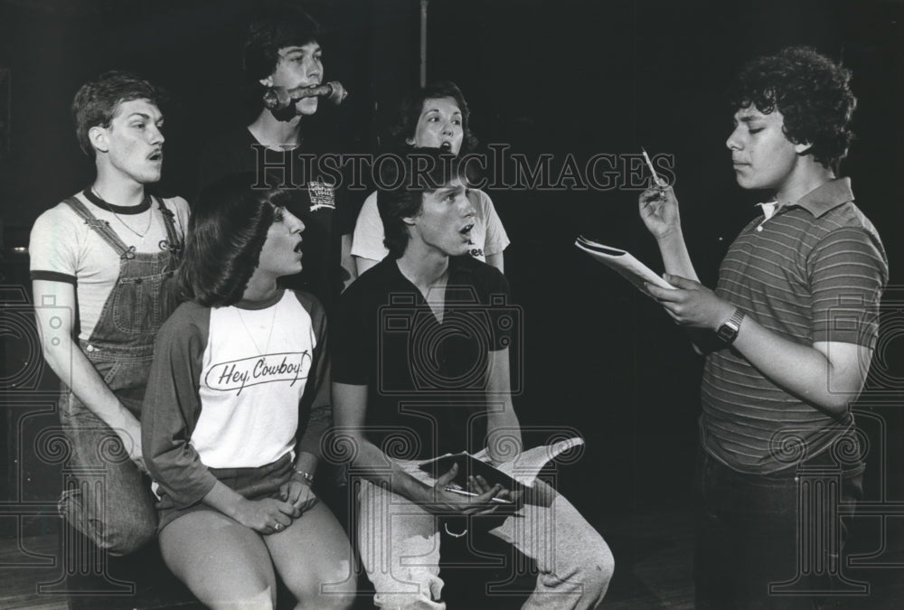
[[[417, 89], [400, 106], [399, 123], [392, 133], [398, 144], [418, 148], [440, 148], [452, 155], [466, 155], [476, 145], [468, 129], [470, 110], [461, 89], [451, 81]], [[477, 189], [468, 192], [475, 209], [476, 223], [471, 232], [474, 241], [471, 256], [504, 270], [503, 250], [509, 245], [502, 221], [489, 196]], [[389, 250], [383, 245], [383, 223], [377, 208], [377, 193], [372, 192], [358, 214], [352, 238], [352, 256], [358, 275], [379, 263]]]

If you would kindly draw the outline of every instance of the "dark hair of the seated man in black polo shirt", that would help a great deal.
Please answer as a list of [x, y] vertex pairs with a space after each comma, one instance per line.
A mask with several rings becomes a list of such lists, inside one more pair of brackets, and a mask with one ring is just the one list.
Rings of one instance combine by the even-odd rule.
[[425, 192], [441, 189], [456, 178], [465, 182], [464, 168], [455, 155], [438, 148], [408, 146], [379, 169], [377, 209], [383, 222], [383, 244], [391, 258], [400, 258], [410, 239], [404, 219], [418, 214]]

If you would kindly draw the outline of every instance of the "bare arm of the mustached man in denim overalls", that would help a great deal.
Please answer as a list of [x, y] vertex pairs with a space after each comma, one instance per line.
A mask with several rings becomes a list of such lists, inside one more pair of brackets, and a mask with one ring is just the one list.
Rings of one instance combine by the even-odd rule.
[[141, 426], [137, 418], [119, 402], [81, 351], [80, 345], [72, 339], [75, 286], [67, 282], [36, 279], [32, 287], [44, 360], [72, 393], [116, 432], [129, 458], [145, 470], [141, 454]]

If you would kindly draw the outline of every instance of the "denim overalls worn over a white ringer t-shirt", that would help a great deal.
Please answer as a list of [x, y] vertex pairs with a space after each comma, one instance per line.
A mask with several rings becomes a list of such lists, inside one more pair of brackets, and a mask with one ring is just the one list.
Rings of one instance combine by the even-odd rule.
[[[80, 340], [80, 347], [136, 418], [140, 418], [155, 334], [178, 305], [179, 295], [174, 271], [181, 239], [173, 214], [162, 201], [156, 202], [164, 212], [167, 248], [137, 252], [80, 200], [66, 200], [119, 259], [116, 284], [89, 339]], [[61, 398], [60, 418], [72, 446], [61, 514], [111, 553], [131, 552], [152, 540], [156, 511], [150, 483], [119, 446], [117, 434], [71, 391]]]

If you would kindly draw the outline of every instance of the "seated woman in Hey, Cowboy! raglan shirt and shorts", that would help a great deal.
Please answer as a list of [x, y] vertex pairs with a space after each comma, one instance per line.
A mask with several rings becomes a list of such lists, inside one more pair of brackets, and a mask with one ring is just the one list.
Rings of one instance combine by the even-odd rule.
[[204, 605], [353, 602], [351, 549], [318, 502], [332, 421], [324, 308], [280, 288], [302, 267], [291, 194], [253, 174], [213, 183], [193, 208], [180, 279], [191, 301], [157, 333], [141, 432], [166, 565]]

